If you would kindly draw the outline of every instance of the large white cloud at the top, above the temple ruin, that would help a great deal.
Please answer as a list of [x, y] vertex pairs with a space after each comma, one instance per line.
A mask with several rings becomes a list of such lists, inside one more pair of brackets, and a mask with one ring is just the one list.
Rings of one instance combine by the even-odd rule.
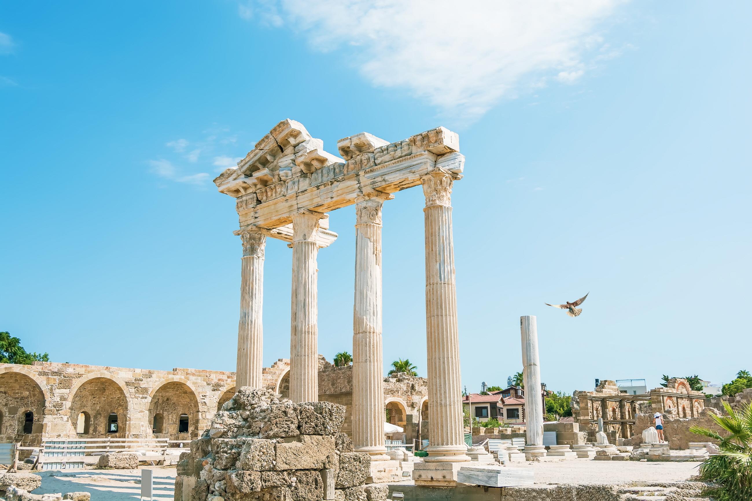
[[247, 17], [299, 29], [318, 50], [350, 46], [353, 62], [376, 86], [404, 87], [475, 118], [549, 76], [580, 78], [592, 67], [589, 52], [603, 44], [599, 24], [620, 3], [263, 0], [239, 8], [241, 16], [245, 6]]

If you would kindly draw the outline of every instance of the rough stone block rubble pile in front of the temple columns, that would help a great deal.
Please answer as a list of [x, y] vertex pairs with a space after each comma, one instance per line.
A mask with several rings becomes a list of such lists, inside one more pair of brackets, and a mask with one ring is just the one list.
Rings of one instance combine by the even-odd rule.
[[177, 465], [175, 501], [381, 501], [368, 454], [340, 433], [344, 406], [241, 387]]

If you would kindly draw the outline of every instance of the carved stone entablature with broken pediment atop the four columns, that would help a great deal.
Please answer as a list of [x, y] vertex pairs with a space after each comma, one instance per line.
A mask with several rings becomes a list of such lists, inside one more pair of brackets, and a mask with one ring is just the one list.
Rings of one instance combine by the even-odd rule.
[[[214, 180], [235, 198], [241, 227], [275, 229], [289, 225], [301, 210], [326, 213], [353, 205], [362, 193], [394, 193], [422, 183], [439, 168], [461, 178], [465, 157], [459, 137], [444, 127], [389, 143], [367, 132], [337, 141], [342, 157], [323, 150], [302, 124], [284, 120], [274, 126], [238, 169]], [[249, 196], [255, 193], [255, 199]]]

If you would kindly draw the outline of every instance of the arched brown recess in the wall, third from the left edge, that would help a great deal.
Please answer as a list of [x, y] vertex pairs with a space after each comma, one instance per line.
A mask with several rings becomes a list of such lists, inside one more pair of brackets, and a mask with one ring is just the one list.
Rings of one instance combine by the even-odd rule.
[[[199, 438], [199, 399], [196, 393], [181, 381], [162, 384], [151, 397], [149, 421], [153, 424], [155, 438], [186, 441]], [[161, 431], [154, 431], [157, 421], [161, 421]]]

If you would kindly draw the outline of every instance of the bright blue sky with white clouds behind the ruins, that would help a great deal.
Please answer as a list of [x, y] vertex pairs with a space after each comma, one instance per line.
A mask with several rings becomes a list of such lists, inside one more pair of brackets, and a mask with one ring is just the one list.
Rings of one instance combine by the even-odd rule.
[[[0, 329], [52, 360], [235, 369], [240, 256], [211, 179], [284, 118], [459, 133], [462, 383], [750, 369], [752, 8], [317, 2], [0, 5]], [[384, 205], [384, 361], [425, 375], [423, 196]], [[319, 348], [351, 351], [354, 210], [319, 254]], [[264, 361], [290, 353], [269, 241]], [[544, 302], [590, 292], [572, 319]], [[386, 368], [385, 368], [386, 371]]]

